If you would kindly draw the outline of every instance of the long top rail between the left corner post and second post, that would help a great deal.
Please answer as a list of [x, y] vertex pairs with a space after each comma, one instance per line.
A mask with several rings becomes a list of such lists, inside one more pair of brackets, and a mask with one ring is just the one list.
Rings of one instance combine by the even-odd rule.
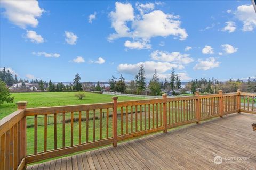
[[98, 104], [26, 108], [25, 116], [45, 115], [63, 112], [91, 111], [94, 109], [113, 108], [113, 106], [114, 105], [112, 102], [108, 102]]

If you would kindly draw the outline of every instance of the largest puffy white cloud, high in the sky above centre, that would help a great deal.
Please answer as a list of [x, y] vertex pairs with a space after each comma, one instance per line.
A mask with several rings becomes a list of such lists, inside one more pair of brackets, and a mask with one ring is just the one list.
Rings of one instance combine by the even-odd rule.
[[[143, 9], [143, 12], [146, 12], [145, 9], [153, 10], [153, 7], [147, 4], [143, 6]], [[180, 40], [185, 40], [188, 36], [186, 30], [180, 27], [179, 16], [165, 14], [161, 10], [142, 13], [134, 17], [134, 9], [130, 3], [116, 2], [116, 10], [111, 11], [109, 16], [112, 27], [116, 31], [116, 33], [109, 35], [109, 41], [121, 37], [150, 41], [152, 37], [167, 37], [170, 35], [179, 36]], [[129, 28], [127, 22], [131, 22], [131, 28]]]

